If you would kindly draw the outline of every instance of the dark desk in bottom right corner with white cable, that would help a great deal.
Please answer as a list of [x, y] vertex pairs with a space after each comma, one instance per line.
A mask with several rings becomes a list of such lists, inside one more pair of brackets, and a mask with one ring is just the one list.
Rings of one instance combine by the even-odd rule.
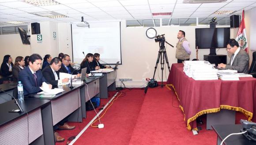
[[[213, 130], [217, 134], [217, 145], [220, 145], [222, 140], [229, 134], [240, 133], [243, 128], [241, 124], [225, 124], [225, 125], [212, 125]], [[243, 134], [231, 135], [227, 138], [223, 145], [256, 145], [256, 141], [249, 141]]]

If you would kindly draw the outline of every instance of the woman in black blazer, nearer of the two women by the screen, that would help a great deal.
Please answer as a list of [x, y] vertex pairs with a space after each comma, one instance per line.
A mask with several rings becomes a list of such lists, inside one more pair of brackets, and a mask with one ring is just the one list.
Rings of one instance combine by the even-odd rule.
[[95, 66], [95, 64], [93, 63], [93, 54], [91, 53], [86, 54], [85, 58], [80, 64], [80, 69], [83, 69], [83, 68], [87, 68], [87, 71], [86, 71], [87, 74], [90, 73], [90, 71], [100, 69], [99, 66]]

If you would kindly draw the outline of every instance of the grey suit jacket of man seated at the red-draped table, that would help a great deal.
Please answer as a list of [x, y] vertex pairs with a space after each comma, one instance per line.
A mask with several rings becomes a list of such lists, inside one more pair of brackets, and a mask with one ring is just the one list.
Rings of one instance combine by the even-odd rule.
[[[232, 57], [230, 58], [230, 63], [231, 59]], [[226, 65], [225, 69], [237, 70], [237, 72], [240, 73], [248, 73], [249, 71], [249, 55], [246, 51], [244, 51], [241, 48], [240, 51], [237, 53], [236, 57], [234, 58], [233, 64], [230, 65], [230, 63]]]

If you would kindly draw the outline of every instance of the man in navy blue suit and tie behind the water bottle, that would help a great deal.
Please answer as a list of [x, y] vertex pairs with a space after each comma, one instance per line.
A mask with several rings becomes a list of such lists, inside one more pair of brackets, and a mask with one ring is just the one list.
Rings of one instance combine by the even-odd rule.
[[[32, 54], [29, 58], [29, 65], [19, 73], [19, 81], [23, 84], [23, 94], [31, 94], [41, 91], [40, 87], [46, 82], [40, 70], [42, 58], [39, 54]], [[49, 88], [52, 85], [49, 84]]]

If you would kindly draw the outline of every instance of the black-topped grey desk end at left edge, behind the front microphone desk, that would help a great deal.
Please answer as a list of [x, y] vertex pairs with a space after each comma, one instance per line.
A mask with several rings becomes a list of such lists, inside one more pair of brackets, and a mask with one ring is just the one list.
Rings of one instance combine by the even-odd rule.
[[[13, 89], [15, 89], [16, 87], [17, 87], [17, 83], [0, 84], [0, 90], [3, 90], [10, 95], [12, 95]], [[4, 92], [0, 91], [0, 104], [11, 100], [11, 96], [9, 96], [8, 94], [5, 94]]]

